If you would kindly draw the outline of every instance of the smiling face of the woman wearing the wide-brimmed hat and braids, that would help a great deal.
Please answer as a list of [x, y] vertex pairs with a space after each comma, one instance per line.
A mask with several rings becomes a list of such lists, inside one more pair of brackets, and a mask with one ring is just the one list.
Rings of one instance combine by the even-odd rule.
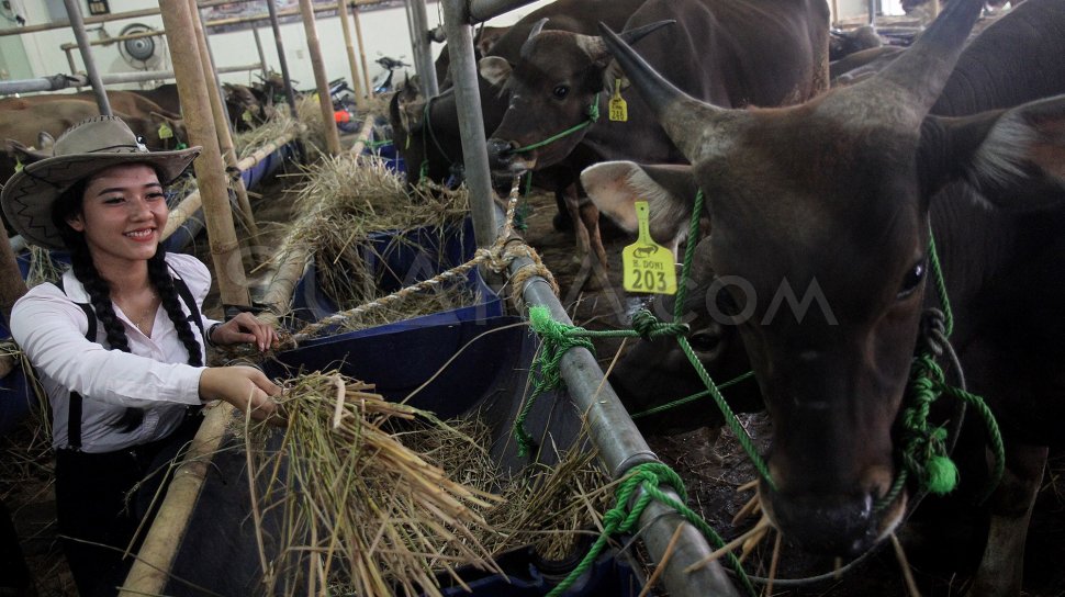
[[166, 195], [155, 169], [124, 164], [101, 170], [86, 184], [81, 213], [68, 219], [85, 233], [92, 260], [115, 264], [147, 261], [167, 224]]

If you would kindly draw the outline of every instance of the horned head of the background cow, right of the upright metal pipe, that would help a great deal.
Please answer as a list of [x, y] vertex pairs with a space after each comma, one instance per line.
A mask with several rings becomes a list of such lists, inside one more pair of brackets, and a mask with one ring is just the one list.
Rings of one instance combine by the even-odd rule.
[[[568, 31], [542, 31], [539, 21], [522, 46], [516, 65], [500, 56], [479, 63], [481, 76], [509, 94], [503, 122], [489, 138], [489, 162], [498, 176], [513, 177], [546, 168], [565, 158], [587, 127], [535, 149], [543, 142], [581, 123], [606, 105], [614, 90], [615, 70], [602, 37]], [[623, 33], [635, 43], [672, 21], [652, 23]]]

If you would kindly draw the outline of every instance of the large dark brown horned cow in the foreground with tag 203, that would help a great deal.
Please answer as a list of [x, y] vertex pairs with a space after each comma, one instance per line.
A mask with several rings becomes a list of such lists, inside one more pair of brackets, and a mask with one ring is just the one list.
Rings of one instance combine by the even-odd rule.
[[[691, 98], [604, 35], [706, 193], [713, 232], [700, 275], [742, 281], [719, 284], [713, 300], [733, 318], [773, 421], [759, 485], [772, 523], [810, 551], [853, 556], [890, 534], [920, 493], [888, 496], [903, 474], [896, 419], [919, 328], [924, 308], [941, 305], [927, 280], [934, 233], [951, 341], [1006, 443], [972, 593], [1017, 595], [1031, 506], [1065, 415], [1065, 15], [1060, 0], [1029, 0], [1000, 21], [1025, 32], [1027, 68], [999, 52], [951, 78], [980, 8], [954, 0], [877, 75], [776, 109]], [[691, 206], [659, 198], [651, 211], [683, 218]], [[816, 297], [815, 307], [796, 298], [771, 312], [782, 289]], [[960, 447], [982, 437], [969, 423]], [[983, 469], [963, 470], [961, 491], [978, 489], [984, 450], [954, 457]]]

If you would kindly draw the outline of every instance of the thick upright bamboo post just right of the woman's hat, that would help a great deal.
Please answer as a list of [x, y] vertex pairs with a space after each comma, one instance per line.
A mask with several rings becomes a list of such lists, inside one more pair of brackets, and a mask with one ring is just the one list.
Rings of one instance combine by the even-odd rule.
[[218, 280], [223, 305], [249, 306], [247, 278], [240, 259], [240, 246], [233, 229], [233, 213], [225, 180], [225, 162], [218, 151], [218, 134], [211, 116], [211, 104], [200, 64], [200, 53], [194, 44], [195, 27], [189, 4], [159, 1], [162, 26], [167, 31], [167, 45], [173, 60], [173, 74], [178, 80], [184, 124], [193, 145], [202, 145], [203, 153], [194, 162], [197, 184], [203, 198], [204, 219], [211, 246], [211, 260]]

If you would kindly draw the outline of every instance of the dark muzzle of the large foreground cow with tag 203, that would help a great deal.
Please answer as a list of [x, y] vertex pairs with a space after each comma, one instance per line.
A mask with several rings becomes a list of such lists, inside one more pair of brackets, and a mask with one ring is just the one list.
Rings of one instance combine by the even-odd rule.
[[773, 525], [801, 549], [822, 555], [854, 557], [887, 537], [901, 520], [896, 500], [884, 511], [872, 495], [783, 495], [761, 488], [762, 507]]

